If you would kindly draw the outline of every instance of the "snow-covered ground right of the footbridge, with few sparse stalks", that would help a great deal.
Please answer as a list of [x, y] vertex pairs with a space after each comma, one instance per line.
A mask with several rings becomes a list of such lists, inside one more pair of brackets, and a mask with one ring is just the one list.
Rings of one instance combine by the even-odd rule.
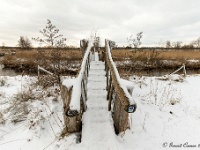
[[130, 80], [138, 108], [131, 117], [132, 129], [119, 138], [126, 149], [200, 149], [199, 75], [183, 82], [155, 77]]

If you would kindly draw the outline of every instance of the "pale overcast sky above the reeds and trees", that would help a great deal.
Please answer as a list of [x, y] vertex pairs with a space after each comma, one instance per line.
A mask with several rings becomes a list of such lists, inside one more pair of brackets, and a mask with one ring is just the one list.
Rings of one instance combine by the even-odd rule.
[[47, 19], [68, 45], [95, 31], [120, 46], [140, 31], [143, 46], [189, 43], [200, 37], [200, 0], [0, 0], [0, 46], [16, 46], [20, 36], [42, 37]]

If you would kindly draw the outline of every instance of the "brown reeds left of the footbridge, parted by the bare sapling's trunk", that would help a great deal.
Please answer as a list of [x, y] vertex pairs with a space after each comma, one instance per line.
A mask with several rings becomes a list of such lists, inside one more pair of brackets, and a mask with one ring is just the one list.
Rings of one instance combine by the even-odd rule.
[[[17, 50], [13, 55], [5, 55], [2, 59], [2, 64], [5, 68], [15, 69], [16, 71], [26, 71], [29, 73], [37, 72], [37, 65], [40, 65], [40, 61], [46, 61], [51, 66], [52, 52], [50, 49], [39, 50]], [[54, 50], [56, 52], [56, 50]], [[78, 67], [72, 64], [80, 65], [82, 59], [82, 53], [79, 49], [60, 50], [60, 63], [63, 64], [63, 72], [69, 71], [69, 68], [78, 70]], [[70, 66], [71, 65], [71, 66]], [[73, 72], [73, 71], [72, 71]], [[73, 72], [73, 74], [76, 74]]]

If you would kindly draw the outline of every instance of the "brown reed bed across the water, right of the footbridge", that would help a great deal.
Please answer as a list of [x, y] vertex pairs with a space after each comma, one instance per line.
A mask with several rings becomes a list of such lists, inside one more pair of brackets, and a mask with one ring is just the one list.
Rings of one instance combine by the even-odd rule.
[[173, 71], [183, 64], [187, 70], [200, 69], [200, 49], [114, 49], [112, 56], [121, 75]]

